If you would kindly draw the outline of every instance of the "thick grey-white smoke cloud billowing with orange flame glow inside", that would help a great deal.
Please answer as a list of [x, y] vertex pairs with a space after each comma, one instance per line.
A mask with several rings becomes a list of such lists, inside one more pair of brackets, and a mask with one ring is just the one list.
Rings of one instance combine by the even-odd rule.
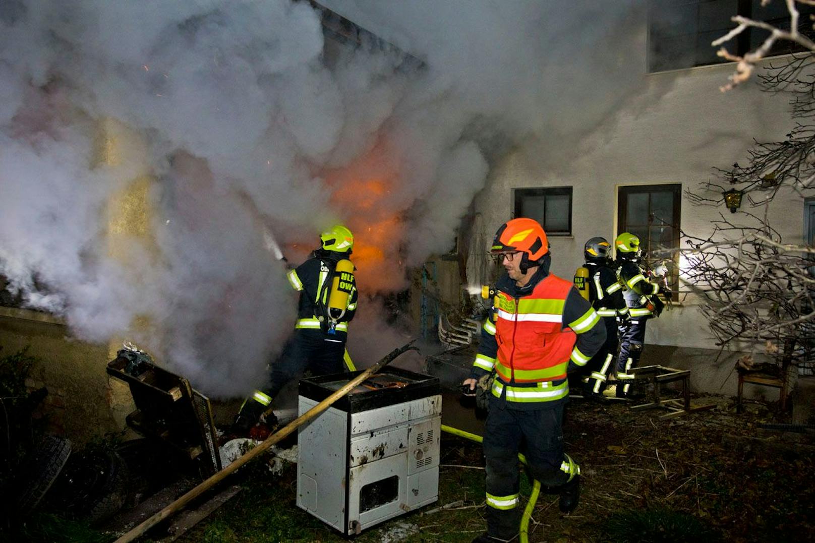
[[[641, 85], [633, 0], [324, 3], [424, 64], [370, 46], [329, 62], [307, 2], [2, 2], [10, 289], [89, 340], [138, 336], [146, 317], [161, 334], [145, 347], [240, 395], [293, 324], [262, 223], [296, 260], [344, 221], [363, 294], [399, 288], [404, 267], [452, 247], [501, 152], [562, 167]], [[95, 161], [109, 119], [141, 142], [116, 167]], [[109, 202], [144, 174], [157, 250], [133, 239], [112, 258]]]

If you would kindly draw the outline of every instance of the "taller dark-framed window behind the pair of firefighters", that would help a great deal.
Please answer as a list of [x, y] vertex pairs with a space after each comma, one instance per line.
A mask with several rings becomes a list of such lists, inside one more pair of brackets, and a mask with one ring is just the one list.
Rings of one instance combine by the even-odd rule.
[[667, 261], [668, 284], [676, 293], [679, 286], [679, 254], [663, 254], [679, 249], [682, 202], [681, 183], [620, 187], [617, 233], [631, 232], [640, 238], [642, 262], [646, 267]]

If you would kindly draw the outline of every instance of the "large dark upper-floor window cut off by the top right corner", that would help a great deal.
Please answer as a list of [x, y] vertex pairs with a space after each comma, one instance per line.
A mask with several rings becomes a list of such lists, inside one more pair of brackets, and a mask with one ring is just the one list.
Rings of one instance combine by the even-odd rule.
[[[798, 4], [799, 31], [813, 38], [809, 15], [815, 7]], [[719, 47], [711, 42], [721, 38], [736, 24], [734, 15], [764, 21], [778, 29], [790, 28], [790, 14], [786, 2], [770, 2], [761, 6], [761, 0], [650, 0], [648, 9], [648, 71], [659, 72], [690, 68], [706, 64], [728, 62], [716, 55]], [[725, 46], [731, 53], [744, 55], [756, 49], [769, 36], [764, 29], [747, 29]], [[792, 42], [778, 41], [769, 55], [786, 55], [803, 51]]]

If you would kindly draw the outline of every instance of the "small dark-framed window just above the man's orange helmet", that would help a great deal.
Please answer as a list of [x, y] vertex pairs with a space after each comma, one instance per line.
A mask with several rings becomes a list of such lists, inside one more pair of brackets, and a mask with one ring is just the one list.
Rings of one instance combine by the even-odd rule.
[[571, 187], [516, 188], [513, 218], [541, 223], [547, 236], [571, 236]]

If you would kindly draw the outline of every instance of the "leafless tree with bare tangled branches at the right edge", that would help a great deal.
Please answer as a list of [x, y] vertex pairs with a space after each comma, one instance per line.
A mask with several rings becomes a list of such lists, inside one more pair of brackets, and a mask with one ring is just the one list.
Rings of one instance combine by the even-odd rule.
[[761, 46], [743, 56], [720, 49], [720, 56], [737, 63], [723, 91], [751, 77], [778, 40], [795, 42], [804, 51], [766, 60], [757, 76], [764, 91], [791, 99], [791, 131], [782, 141], [756, 141], [745, 166], [716, 169], [715, 180], [686, 192], [695, 204], [720, 206], [727, 205], [725, 192], [731, 191], [730, 197], [742, 198], [742, 208], [720, 213], [707, 238], [683, 232], [686, 248], [681, 249], [688, 263], [685, 279], [703, 298], [702, 311], [719, 344], [749, 342], [779, 369], [811, 368], [815, 362], [815, 249], [784, 243], [769, 219], [774, 199], [797, 196], [803, 207], [804, 196], [815, 188], [815, 42], [799, 33], [796, 4], [815, 5], [815, 0], [786, 0], [789, 30], [736, 16], [738, 27], [713, 42], [721, 45], [750, 27], [769, 31]]

